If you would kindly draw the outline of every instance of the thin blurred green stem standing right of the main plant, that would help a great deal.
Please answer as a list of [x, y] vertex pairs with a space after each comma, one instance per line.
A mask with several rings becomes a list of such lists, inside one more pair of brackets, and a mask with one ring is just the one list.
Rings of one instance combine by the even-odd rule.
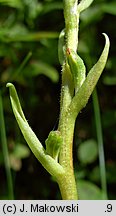
[[93, 91], [92, 98], [93, 98], [95, 124], [96, 124], [97, 140], [98, 140], [101, 187], [102, 187], [102, 191], [103, 191], [103, 199], [108, 199], [107, 182], [106, 182], [106, 169], [105, 169], [105, 156], [104, 156], [104, 146], [103, 146], [103, 136], [102, 136], [102, 125], [101, 125], [99, 101], [98, 101], [96, 89], [94, 89], [94, 91]]

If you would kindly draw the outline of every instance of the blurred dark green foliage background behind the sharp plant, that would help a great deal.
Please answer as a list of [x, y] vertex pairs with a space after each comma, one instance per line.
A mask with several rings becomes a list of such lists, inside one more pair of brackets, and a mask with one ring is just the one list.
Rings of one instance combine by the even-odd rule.
[[[45, 146], [58, 124], [61, 66], [58, 36], [64, 28], [62, 0], [0, 0], [0, 199], [61, 199], [58, 185], [29, 150], [12, 113], [7, 82], [15, 84], [25, 116]], [[116, 1], [95, 0], [81, 14], [78, 53], [87, 71], [103, 46], [111, 47], [97, 85], [108, 198], [116, 199]], [[80, 199], [102, 199], [96, 111], [79, 114], [74, 168]], [[5, 126], [4, 126], [5, 121]], [[7, 148], [8, 147], [8, 148]], [[10, 168], [10, 169], [9, 169]], [[10, 173], [11, 171], [11, 173]]]

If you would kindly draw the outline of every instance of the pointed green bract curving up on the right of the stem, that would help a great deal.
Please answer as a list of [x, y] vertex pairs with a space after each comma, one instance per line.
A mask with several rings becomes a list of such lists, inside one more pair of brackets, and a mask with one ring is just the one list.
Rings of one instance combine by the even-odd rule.
[[102, 51], [102, 54], [99, 60], [97, 61], [97, 63], [89, 71], [87, 78], [85, 79], [79, 91], [74, 96], [69, 106], [71, 113], [75, 117], [77, 117], [81, 109], [86, 106], [88, 99], [91, 96], [98, 82], [98, 79], [106, 65], [106, 61], [107, 61], [108, 53], [109, 53], [110, 41], [109, 41], [108, 36], [105, 33], [103, 33], [103, 35], [105, 36], [105, 47]]

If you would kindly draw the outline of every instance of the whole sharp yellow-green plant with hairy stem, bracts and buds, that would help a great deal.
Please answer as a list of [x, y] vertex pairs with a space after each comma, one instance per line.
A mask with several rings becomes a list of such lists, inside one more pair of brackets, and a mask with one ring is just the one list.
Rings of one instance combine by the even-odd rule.
[[22, 134], [34, 155], [44, 168], [55, 177], [63, 199], [78, 199], [73, 170], [73, 135], [79, 112], [86, 106], [90, 95], [105, 67], [109, 52], [109, 39], [105, 36], [105, 47], [98, 62], [87, 76], [83, 60], [76, 54], [80, 13], [93, 0], [64, 0], [65, 29], [59, 38], [59, 59], [62, 63], [62, 86], [59, 124], [50, 132], [46, 149], [30, 128], [20, 105], [16, 89], [8, 83], [14, 115]]

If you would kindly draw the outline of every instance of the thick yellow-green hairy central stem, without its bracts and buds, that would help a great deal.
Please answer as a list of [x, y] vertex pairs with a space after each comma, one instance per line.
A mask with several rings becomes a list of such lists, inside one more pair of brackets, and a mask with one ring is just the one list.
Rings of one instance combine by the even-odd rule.
[[[65, 36], [66, 52], [70, 48], [76, 52], [78, 44], [78, 22], [77, 0], [64, 0]], [[77, 199], [77, 188], [73, 170], [73, 135], [76, 117], [73, 118], [68, 109], [74, 87], [72, 87], [72, 74], [67, 62], [63, 64], [62, 88], [61, 88], [61, 107], [58, 130], [63, 137], [63, 145], [60, 151], [59, 163], [64, 168], [65, 174], [60, 177], [58, 184], [62, 198], [65, 200]]]

